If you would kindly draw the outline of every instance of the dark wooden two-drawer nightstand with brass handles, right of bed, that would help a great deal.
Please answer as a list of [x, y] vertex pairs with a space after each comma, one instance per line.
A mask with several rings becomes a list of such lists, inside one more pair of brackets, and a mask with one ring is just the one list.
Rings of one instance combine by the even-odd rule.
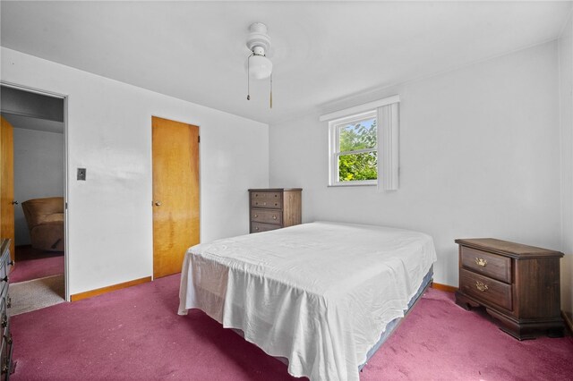
[[459, 306], [483, 306], [500, 329], [519, 340], [536, 331], [560, 336], [559, 251], [492, 238], [456, 240]]

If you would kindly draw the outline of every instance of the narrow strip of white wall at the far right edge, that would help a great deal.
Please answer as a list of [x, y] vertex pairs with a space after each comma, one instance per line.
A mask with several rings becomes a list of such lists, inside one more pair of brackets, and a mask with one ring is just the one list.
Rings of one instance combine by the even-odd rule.
[[561, 308], [573, 311], [573, 23], [559, 39], [561, 118]]

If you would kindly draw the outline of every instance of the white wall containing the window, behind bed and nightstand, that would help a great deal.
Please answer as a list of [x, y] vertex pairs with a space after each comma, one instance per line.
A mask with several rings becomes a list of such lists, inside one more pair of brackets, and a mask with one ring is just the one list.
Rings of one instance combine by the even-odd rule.
[[303, 218], [387, 224], [432, 234], [434, 279], [458, 285], [456, 238], [560, 249], [557, 43], [324, 107], [399, 94], [400, 189], [327, 187], [319, 113], [269, 128], [269, 184], [302, 187]]

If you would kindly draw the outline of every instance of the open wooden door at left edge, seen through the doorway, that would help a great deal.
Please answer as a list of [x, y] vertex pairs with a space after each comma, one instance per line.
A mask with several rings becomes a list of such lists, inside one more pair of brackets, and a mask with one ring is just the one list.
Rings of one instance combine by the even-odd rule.
[[10, 256], [14, 258], [14, 154], [13, 128], [0, 116], [0, 237], [9, 238]]

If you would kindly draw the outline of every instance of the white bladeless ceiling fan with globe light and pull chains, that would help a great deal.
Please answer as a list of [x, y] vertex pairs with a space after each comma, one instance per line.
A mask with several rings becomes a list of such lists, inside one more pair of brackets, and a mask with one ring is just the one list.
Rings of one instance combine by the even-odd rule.
[[254, 80], [270, 79], [269, 106], [272, 108], [272, 62], [267, 58], [270, 49], [270, 38], [267, 26], [254, 22], [249, 27], [246, 46], [251, 50], [247, 57], [247, 100], [251, 100], [251, 78]]

